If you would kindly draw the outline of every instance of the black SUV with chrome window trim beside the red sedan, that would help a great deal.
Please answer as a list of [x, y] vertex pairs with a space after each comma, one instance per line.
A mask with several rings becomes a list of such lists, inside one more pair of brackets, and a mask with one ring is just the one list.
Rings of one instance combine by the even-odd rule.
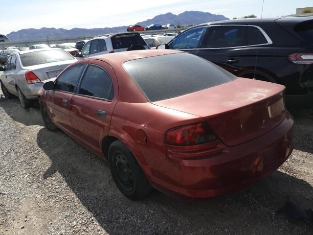
[[183, 31], [168, 48], [201, 56], [240, 77], [285, 85], [290, 105], [313, 105], [312, 17], [200, 24]]

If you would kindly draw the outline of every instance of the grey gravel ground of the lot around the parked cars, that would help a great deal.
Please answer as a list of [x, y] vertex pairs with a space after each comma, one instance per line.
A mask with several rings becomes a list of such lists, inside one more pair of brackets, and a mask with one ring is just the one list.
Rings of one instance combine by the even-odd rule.
[[295, 150], [261, 182], [207, 202], [157, 191], [133, 202], [105, 161], [46, 130], [38, 108], [22, 110], [1, 94], [0, 234], [312, 235], [305, 222], [275, 213], [288, 199], [313, 209], [313, 110], [291, 112]]

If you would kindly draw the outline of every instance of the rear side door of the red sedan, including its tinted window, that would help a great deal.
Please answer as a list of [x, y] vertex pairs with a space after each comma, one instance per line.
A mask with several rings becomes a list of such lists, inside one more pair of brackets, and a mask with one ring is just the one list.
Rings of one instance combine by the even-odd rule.
[[76, 94], [70, 103], [75, 136], [101, 154], [101, 142], [108, 134], [118, 89], [114, 71], [107, 63], [89, 60]]

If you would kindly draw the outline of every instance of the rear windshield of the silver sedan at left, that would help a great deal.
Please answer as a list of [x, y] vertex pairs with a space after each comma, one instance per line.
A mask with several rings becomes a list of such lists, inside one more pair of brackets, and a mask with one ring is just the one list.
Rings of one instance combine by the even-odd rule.
[[73, 57], [64, 50], [43, 50], [21, 54], [23, 67], [63, 60], [73, 60]]

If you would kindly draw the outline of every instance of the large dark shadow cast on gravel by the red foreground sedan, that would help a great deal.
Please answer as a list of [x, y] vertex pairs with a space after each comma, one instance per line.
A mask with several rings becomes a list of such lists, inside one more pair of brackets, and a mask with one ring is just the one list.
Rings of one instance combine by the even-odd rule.
[[[275, 211], [288, 198], [312, 208], [313, 188], [276, 171], [256, 185], [206, 202], [175, 200], [158, 191], [138, 202], [116, 188], [108, 164], [61, 131], [41, 129], [37, 143], [51, 160], [43, 175], [59, 172], [108, 234], [312, 234]], [[257, 233], [256, 233], [257, 231]]]

